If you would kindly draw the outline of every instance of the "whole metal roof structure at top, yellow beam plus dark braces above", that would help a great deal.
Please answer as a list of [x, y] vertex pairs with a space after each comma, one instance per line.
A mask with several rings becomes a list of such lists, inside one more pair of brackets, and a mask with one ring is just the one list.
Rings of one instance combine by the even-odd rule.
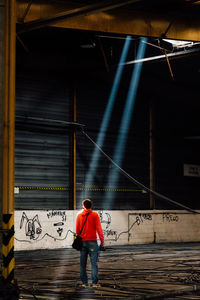
[[18, 0], [18, 34], [46, 26], [200, 41], [200, 1]]

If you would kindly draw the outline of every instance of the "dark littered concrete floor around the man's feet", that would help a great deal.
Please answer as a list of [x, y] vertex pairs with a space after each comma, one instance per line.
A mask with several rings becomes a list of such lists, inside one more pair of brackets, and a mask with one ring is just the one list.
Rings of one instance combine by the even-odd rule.
[[76, 250], [20, 251], [15, 259], [20, 299], [200, 299], [200, 243], [107, 248], [98, 289], [80, 286]]

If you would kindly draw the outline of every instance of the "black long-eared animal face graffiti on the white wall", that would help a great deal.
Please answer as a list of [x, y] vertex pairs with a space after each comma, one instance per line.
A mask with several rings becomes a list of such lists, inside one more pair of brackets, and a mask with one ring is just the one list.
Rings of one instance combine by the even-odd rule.
[[25, 224], [25, 234], [30, 237], [31, 240], [37, 240], [42, 233], [42, 226], [40, 224], [38, 215], [35, 215], [33, 219], [29, 219], [25, 212], [22, 214], [20, 229]]

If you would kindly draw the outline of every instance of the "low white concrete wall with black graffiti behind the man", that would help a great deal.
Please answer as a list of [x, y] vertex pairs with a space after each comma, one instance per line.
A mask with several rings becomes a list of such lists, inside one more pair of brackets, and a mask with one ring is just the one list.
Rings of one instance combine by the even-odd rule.
[[[78, 211], [16, 211], [15, 250], [70, 248]], [[200, 214], [186, 211], [98, 211], [106, 246], [199, 242]]]

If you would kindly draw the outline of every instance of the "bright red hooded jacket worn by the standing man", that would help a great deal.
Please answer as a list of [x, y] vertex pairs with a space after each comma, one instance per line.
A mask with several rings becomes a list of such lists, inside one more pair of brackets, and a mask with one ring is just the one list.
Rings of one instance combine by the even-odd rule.
[[76, 234], [80, 235], [81, 228], [85, 222], [85, 218], [88, 218], [84, 225], [81, 237], [83, 241], [96, 241], [97, 233], [100, 238], [101, 244], [104, 244], [103, 230], [98, 213], [92, 211], [92, 209], [84, 208], [76, 218]]

